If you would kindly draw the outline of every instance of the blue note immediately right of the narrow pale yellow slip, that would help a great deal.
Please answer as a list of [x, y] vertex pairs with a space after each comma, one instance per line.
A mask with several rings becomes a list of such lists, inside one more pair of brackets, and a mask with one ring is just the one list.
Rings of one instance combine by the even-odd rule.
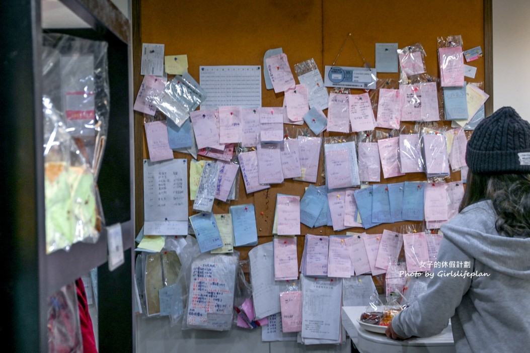
[[256, 245], [258, 229], [253, 204], [230, 206], [234, 227], [234, 247]]

